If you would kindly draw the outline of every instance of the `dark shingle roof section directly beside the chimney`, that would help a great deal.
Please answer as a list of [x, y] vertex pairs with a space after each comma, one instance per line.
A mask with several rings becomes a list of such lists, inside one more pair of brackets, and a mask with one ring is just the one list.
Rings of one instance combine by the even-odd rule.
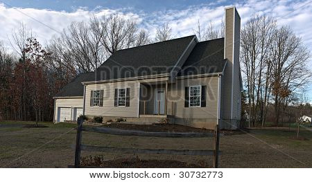
[[224, 57], [224, 38], [198, 42], [178, 75], [220, 73], [227, 60]]

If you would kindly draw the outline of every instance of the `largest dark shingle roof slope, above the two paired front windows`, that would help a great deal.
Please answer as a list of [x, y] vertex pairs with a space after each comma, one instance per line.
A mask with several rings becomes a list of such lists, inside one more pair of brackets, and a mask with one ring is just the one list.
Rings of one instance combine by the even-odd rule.
[[98, 69], [97, 80], [169, 73], [195, 35], [116, 51]]

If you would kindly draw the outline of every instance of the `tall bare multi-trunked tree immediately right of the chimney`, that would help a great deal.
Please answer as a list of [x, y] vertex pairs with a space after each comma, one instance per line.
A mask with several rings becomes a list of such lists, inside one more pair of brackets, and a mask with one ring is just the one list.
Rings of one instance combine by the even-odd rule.
[[269, 47], [276, 28], [270, 17], [255, 15], [241, 31], [241, 62], [248, 89], [249, 127], [264, 118], [270, 92]]

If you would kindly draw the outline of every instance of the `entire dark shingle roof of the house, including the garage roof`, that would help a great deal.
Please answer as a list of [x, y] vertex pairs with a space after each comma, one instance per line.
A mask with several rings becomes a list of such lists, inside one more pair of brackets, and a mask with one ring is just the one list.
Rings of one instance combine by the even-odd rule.
[[[130, 78], [141, 75], [170, 73], [195, 35], [116, 51], [95, 73], [82, 73], [67, 84], [55, 97], [83, 96], [83, 84], [97, 80]], [[224, 38], [199, 42], [178, 75], [219, 73], [227, 60]]]

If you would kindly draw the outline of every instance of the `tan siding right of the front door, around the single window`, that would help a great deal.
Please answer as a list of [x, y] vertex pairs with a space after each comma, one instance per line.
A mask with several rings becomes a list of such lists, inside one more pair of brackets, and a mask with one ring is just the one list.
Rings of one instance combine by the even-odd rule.
[[[206, 85], [206, 107], [184, 107], [185, 87]], [[175, 118], [217, 120], [218, 77], [191, 78], [177, 80], [168, 85], [168, 115], [172, 113], [172, 102], [175, 103]]]

